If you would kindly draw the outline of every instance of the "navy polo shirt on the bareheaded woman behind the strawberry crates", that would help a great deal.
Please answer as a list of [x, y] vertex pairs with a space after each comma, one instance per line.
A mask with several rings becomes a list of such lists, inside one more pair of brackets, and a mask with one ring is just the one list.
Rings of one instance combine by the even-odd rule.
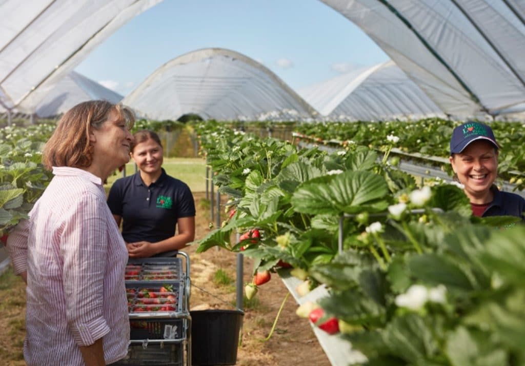
[[190, 187], [166, 174], [146, 186], [140, 171], [111, 186], [108, 205], [122, 217], [122, 237], [127, 243], [156, 243], [175, 235], [177, 219], [195, 216]]

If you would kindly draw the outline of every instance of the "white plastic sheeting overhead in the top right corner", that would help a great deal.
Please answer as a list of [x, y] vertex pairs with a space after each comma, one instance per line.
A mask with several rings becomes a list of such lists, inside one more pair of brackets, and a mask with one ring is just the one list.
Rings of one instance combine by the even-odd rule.
[[321, 0], [358, 25], [445, 113], [525, 110], [523, 0]]

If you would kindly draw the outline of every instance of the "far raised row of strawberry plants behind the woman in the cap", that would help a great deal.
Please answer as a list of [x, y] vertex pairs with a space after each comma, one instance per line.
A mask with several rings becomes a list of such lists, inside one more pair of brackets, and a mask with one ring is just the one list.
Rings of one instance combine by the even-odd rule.
[[[370, 148], [383, 149], [388, 137], [398, 139], [396, 147], [406, 153], [447, 158], [449, 140], [460, 122], [428, 118], [402, 122], [323, 122], [296, 124], [295, 136], [315, 143], [334, 143], [344, 146], [359, 143]], [[491, 122], [501, 146], [499, 174], [520, 190], [525, 189], [521, 172], [525, 170], [525, 124], [522, 122]], [[449, 164], [442, 165], [449, 171]]]

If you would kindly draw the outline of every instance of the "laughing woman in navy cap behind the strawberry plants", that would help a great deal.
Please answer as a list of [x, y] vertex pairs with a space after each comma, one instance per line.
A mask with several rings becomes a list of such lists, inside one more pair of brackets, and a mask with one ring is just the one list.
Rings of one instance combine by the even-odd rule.
[[525, 198], [498, 190], [499, 145], [492, 129], [483, 123], [466, 122], [456, 127], [450, 139], [450, 164], [454, 178], [464, 185], [472, 214], [523, 217]]

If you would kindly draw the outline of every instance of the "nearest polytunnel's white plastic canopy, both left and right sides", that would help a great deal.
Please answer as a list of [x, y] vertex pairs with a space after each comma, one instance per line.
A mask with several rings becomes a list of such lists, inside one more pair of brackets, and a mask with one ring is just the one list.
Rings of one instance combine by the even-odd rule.
[[[32, 113], [43, 87], [160, 1], [5, 0], [0, 105]], [[363, 29], [448, 116], [525, 114], [523, 1], [321, 1]]]

